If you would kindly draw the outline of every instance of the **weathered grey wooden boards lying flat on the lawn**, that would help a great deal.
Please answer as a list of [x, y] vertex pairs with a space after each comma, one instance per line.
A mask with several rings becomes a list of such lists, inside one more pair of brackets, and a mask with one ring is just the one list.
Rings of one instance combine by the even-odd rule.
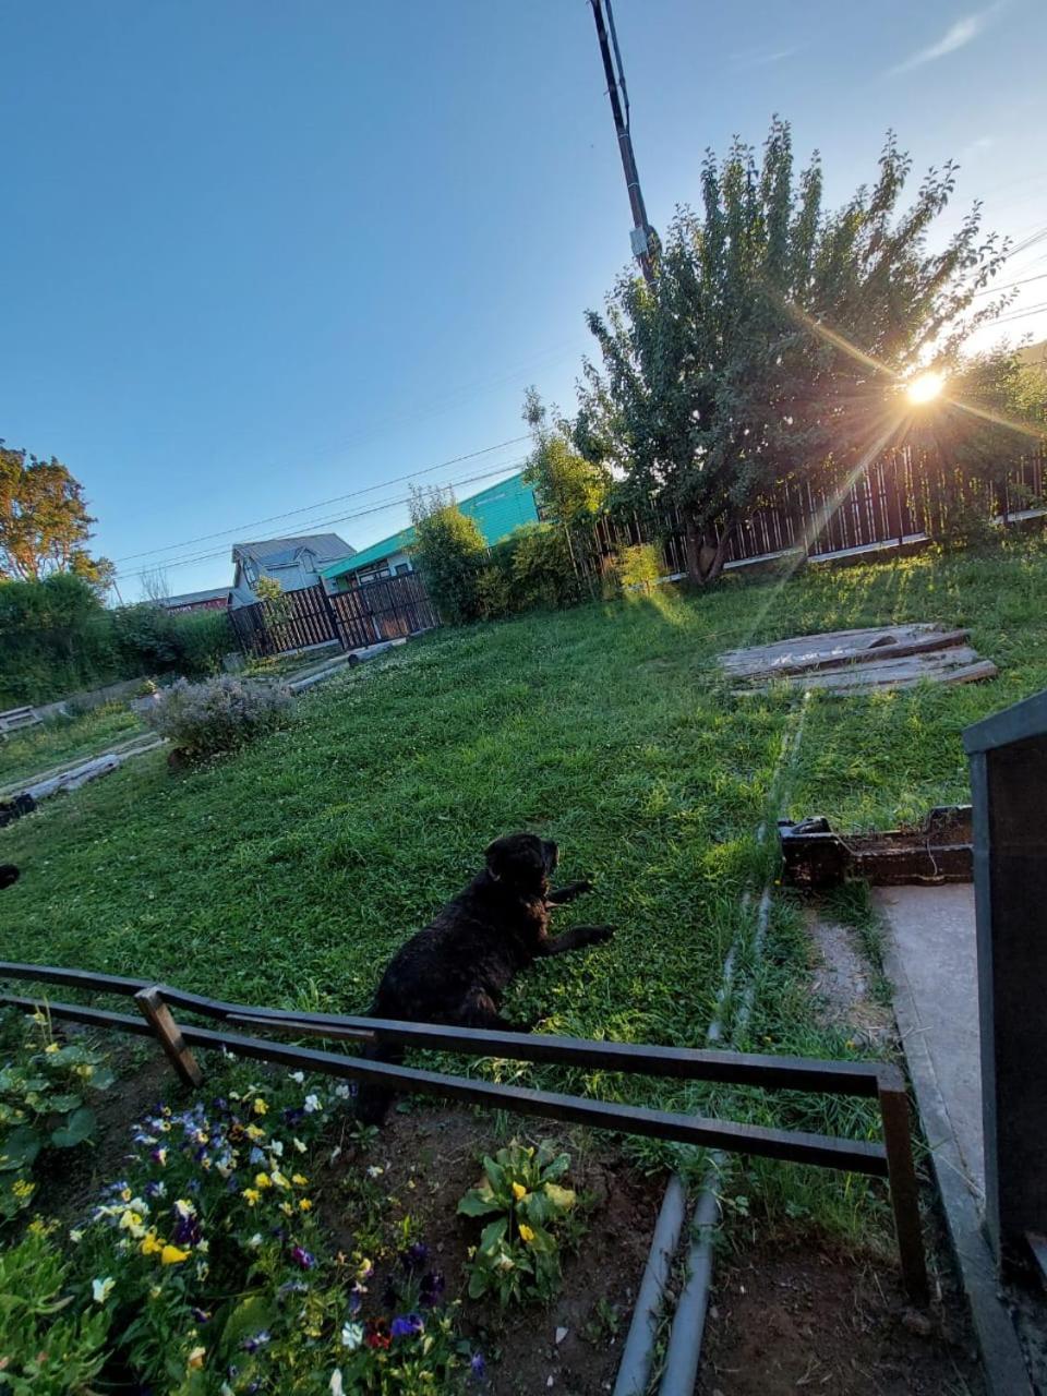
[[969, 645], [966, 630], [919, 623], [794, 635], [773, 645], [732, 649], [720, 664], [738, 681], [736, 692], [764, 692], [771, 684], [868, 692], [912, 688], [923, 681], [972, 684], [995, 678], [997, 666]]

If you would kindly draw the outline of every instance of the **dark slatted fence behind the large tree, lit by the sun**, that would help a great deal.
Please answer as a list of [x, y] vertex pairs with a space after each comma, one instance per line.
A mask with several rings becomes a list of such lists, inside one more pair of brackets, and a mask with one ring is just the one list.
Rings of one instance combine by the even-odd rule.
[[[1026, 458], [990, 483], [941, 458], [907, 448], [895, 451], [842, 486], [808, 480], [780, 486], [736, 524], [727, 563], [790, 550], [831, 557], [941, 537], [951, 519], [974, 507], [1008, 525], [1029, 511], [1043, 511], [1046, 476], [1043, 455]], [[660, 544], [669, 571], [685, 571], [684, 525], [676, 510], [600, 519], [584, 563], [599, 571], [602, 558], [637, 543]]]

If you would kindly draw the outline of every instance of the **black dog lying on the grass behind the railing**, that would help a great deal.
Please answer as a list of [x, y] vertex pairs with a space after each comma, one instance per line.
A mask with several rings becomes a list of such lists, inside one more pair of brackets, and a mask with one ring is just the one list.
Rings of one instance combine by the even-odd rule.
[[[551, 907], [592, 889], [591, 882], [570, 882], [550, 891], [549, 878], [558, 861], [556, 843], [533, 833], [510, 833], [496, 839], [484, 856], [484, 870], [394, 955], [378, 984], [371, 1018], [528, 1032], [500, 1013], [512, 977], [539, 956], [611, 938], [610, 926], [575, 926], [550, 937]], [[403, 1048], [374, 1047], [367, 1057], [399, 1062]], [[381, 1124], [391, 1099], [385, 1087], [364, 1082], [357, 1118]]]

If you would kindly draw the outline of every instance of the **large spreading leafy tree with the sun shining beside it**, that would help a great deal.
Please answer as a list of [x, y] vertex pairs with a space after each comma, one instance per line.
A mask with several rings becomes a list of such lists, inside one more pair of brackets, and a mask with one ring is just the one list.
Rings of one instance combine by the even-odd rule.
[[762, 161], [740, 141], [706, 156], [701, 211], [673, 221], [653, 285], [624, 274], [589, 313], [602, 364], [585, 364], [578, 448], [632, 503], [680, 511], [692, 581], [719, 575], [772, 484], [842, 482], [885, 448], [905, 429], [899, 378], [997, 313], [970, 310], [1002, 257], [977, 205], [930, 247], [955, 168], [902, 208], [909, 174], [889, 135], [875, 183], [826, 212], [818, 156], [797, 176], [775, 120]]

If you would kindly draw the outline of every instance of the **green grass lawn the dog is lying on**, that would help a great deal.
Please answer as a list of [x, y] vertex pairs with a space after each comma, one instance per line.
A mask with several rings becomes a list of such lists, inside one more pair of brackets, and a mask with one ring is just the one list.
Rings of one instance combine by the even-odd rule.
[[[145, 757], [0, 832], [0, 859], [24, 874], [0, 902], [0, 953], [363, 1009], [389, 953], [472, 875], [484, 845], [532, 826], [560, 840], [565, 879], [597, 882], [560, 924], [618, 930], [606, 948], [536, 966], [507, 1012], [540, 1015], [547, 1032], [699, 1046], [723, 955], [747, 924], [743, 889], [766, 863], [754, 831], [797, 702], [733, 697], [715, 656], [903, 620], [969, 625], [1000, 678], [815, 695], [787, 808], [840, 828], [916, 818], [965, 797], [962, 729], [1047, 685], [1041, 544], [808, 568], [785, 584], [732, 578], [708, 595], [412, 642], [303, 697], [292, 727], [254, 750], [181, 776], [162, 754]], [[762, 973], [752, 1043], [854, 1050], [812, 1020], [786, 900]], [[557, 1079], [649, 1099], [649, 1083]], [[658, 1092], [676, 1106], [706, 1099], [671, 1083]], [[769, 1108], [745, 1104], [757, 1118]], [[846, 1103], [797, 1097], [775, 1110], [807, 1128], [874, 1125]], [[845, 1212], [860, 1209], [864, 1194], [826, 1177]]]

